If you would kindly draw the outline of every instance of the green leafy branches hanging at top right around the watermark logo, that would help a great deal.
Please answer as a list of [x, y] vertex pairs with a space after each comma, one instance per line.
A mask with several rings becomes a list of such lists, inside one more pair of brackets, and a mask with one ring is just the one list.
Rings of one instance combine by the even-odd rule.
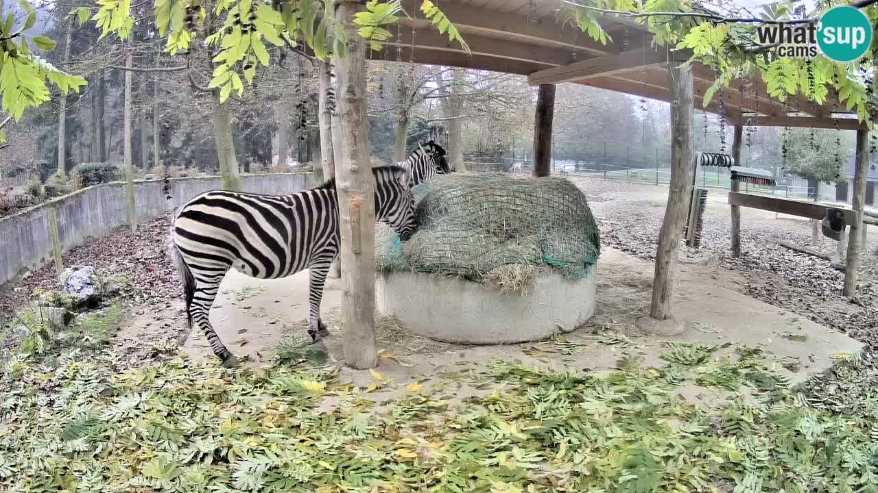
[[[858, 0], [851, 6], [865, 9], [864, 13], [874, 25], [878, 23], [878, 10], [868, 7], [876, 2], [878, 0]], [[818, 21], [821, 11], [794, 18], [795, 4], [791, 0], [764, 6], [761, 16], [734, 15], [737, 12], [726, 16], [680, 0], [645, 3], [631, 0], [594, 0], [589, 3], [564, 0], [564, 5], [568, 20], [601, 42], [606, 42], [601, 17], [609, 16], [635, 19], [645, 25], [657, 44], [691, 50], [693, 54], [689, 62], [701, 62], [717, 73], [716, 81], [705, 93], [704, 107], [708, 106], [717, 91], [729, 87], [731, 82], [759, 76], [766, 82], [768, 95], [781, 102], [788, 96], [801, 94], [816, 104], [824, 104], [826, 97], [834, 92], [848, 110], [857, 112], [860, 121], [872, 125], [872, 103], [860, 61], [836, 63], [823, 55], [813, 60], [779, 57], [771, 52], [772, 46], [756, 41], [755, 25], [813, 24]], [[864, 61], [874, 61], [874, 49], [867, 52]]]

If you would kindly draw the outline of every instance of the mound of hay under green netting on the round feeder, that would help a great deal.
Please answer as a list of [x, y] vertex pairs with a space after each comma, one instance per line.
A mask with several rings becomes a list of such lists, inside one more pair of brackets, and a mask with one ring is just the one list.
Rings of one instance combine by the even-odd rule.
[[586, 197], [564, 178], [441, 175], [414, 189], [418, 231], [405, 245], [386, 225], [382, 270], [461, 275], [519, 290], [540, 268], [580, 279], [601, 254]]

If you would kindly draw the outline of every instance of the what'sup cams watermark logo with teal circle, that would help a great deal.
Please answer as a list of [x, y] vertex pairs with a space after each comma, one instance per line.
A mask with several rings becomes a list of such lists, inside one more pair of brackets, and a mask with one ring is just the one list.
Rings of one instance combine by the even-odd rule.
[[817, 24], [759, 25], [759, 44], [776, 46], [782, 57], [814, 58], [818, 53], [834, 61], [854, 61], [872, 43], [872, 26], [863, 12], [846, 5], [826, 11]]

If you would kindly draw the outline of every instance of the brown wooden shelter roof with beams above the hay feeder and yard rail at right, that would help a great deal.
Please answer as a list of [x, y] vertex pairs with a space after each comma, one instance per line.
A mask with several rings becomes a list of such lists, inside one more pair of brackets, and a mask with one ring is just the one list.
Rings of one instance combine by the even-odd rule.
[[[466, 54], [457, 41], [449, 41], [417, 17], [421, 0], [404, 0], [403, 4], [414, 19], [392, 28], [395, 38], [383, 51], [372, 52], [373, 59], [527, 75], [532, 85], [574, 82], [659, 101], [670, 98], [668, 62], [674, 54], [666, 46], [652, 47], [651, 33], [642, 25], [604, 18], [601, 25], [612, 41], [603, 45], [579, 28], [564, 25], [558, 14], [560, 0], [435, 1], [463, 34], [471, 48], [471, 54]], [[696, 108], [701, 108], [705, 91], [715, 80], [711, 68], [694, 66]], [[764, 82], [749, 81], [752, 89], [744, 91], [742, 83], [723, 91], [729, 123], [833, 128], [838, 121], [842, 129], [865, 128], [855, 118], [847, 119], [853, 111], [838, 104], [835, 94], [822, 105], [801, 96], [792, 96], [783, 104], [768, 96]], [[706, 110], [721, 112], [719, 98], [715, 96]]]

